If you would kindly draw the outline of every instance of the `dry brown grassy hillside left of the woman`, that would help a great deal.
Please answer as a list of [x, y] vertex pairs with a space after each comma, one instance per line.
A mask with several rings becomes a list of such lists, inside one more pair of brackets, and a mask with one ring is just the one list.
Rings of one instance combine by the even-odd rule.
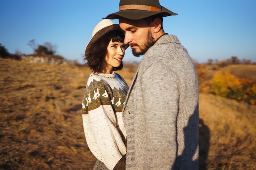
[[81, 100], [86, 68], [0, 59], [0, 168], [90, 169]]

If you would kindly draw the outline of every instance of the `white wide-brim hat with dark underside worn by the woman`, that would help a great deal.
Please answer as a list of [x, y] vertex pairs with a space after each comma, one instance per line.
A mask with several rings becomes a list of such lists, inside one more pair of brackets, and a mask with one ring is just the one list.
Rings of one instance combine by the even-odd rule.
[[[101, 22], [99, 22], [93, 29], [92, 38], [90, 39], [89, 43], [87, 44], [87, 46], [85, 48], [85, 57], [87, 56], [87, 53], [90, 50], [90, 48], [93, 48], [94, 43], [96, 41], [98, 41], [106, 33], [109, 33], [110, 31], [116, 31], [116, 30], [121, 31], [119, 24], [115, 24], [114, 22], [112, 22], [109, 19], [105, 19], [105, 20], [102, 20]], [[126, 46], [126, 48], [128, 48], [128, 46]]]

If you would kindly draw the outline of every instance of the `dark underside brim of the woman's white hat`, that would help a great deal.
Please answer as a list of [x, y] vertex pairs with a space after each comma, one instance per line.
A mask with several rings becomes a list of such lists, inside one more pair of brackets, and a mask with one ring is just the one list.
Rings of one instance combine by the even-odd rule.
[[[113, 24], [110, 26], [107, 26], [105, 28], [102, 28], [100, 31], [98, 31], [89, 41], [89, 43], [87, 44], [86, 48], [85, 48], [85, 56], [87, 56], [88, 51], [90, 50], [90, 48], [94, 47], [94, 44], [106, 33], [109, 33], [110, 31], [121, 31], [121, 28], [119, 26], [119, 24]], [[128, 44], [125, 46], [125, 49], [128, 48]]]

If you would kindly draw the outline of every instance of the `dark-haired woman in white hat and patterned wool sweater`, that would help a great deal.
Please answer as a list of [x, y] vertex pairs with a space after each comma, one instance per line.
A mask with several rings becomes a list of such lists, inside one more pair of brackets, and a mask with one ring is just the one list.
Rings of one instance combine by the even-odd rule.
[[123, 68], [127, 47], [119, 24], [106, 19], [95, 26], [85, 48], [85, 61], [93, 72], [83, 97], [83, 128], [87, 144], [98, 159], [94, 169], [118, 169], [120, 162], [125, 162], [126, 131], [122, 109], [128, 85], [113, 71]]

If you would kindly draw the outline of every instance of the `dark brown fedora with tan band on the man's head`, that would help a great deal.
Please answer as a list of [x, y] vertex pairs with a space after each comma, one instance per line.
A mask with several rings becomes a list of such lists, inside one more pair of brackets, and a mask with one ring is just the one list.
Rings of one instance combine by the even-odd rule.
[[130, 20], [140, 20], [156, 14], [162, 17], [178, 15], [162, 7], [159, 0], [120, 0], [119, 11], [109, 14], [103, 19], [118, 19], [119, 17], [124, 17]]

